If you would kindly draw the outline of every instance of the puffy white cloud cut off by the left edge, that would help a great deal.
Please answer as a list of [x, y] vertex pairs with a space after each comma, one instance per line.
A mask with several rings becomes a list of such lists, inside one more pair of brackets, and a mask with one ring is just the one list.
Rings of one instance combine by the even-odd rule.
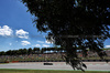
[[8, 25], [3, 25], [2, 28], [0, 27], [0, 35], [10, 36], [12, 34], [13, 34], [13, 31], [12, 31], [12, 29], [10, 29], [10, 27], [8, 27]]

